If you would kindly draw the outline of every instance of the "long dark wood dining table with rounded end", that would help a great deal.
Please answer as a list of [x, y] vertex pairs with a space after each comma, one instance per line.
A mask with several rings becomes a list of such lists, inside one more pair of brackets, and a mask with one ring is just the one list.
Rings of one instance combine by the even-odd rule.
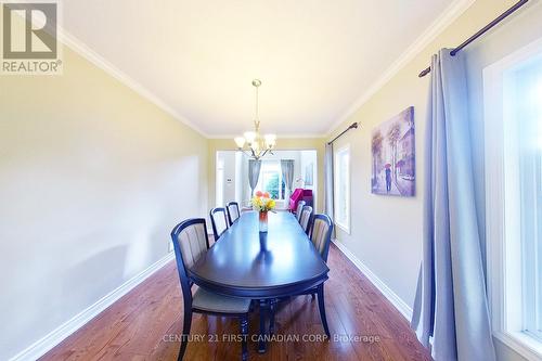
[[[320, 315], [326, 334], [323, 285], [330, 269], [294, 215], [269, 215], [268, 232], [258, 228], [258, 214], [241, 216], [190, 269], [201, 287], [228, 296], [255, 299], [260, 306], [260, 336], [266, 332], [266, 310], [278, 299], [317, 289]], [[270, 318], [273, 333], [273, 317]], [[259, 351], [264, 352], [264, 337]]]

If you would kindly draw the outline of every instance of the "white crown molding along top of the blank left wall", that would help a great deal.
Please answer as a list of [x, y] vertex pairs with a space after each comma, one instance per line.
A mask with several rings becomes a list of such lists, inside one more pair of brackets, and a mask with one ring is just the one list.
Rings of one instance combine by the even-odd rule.
[[91, 62], [134, 92], [137, 92], [142, 98], [146, 99], [154, 105], [158, 106], [160, 109], [172, 116], [175, 119], [181, 121], [185, 126], [192, 128], [194, 131], [198, 132], [204, 138], [209, 138], [205, 131], [203, 131], [195, 124], [180, 115], [177, 111], [175, 111], [171, 106], [166, 104], [159, 96], [150, 91], [147, 88], [143, 87], [140, 82], [136, 81], [133, 78], [128, 76], [126, 73], [117, 68], [112, 63], [107, 62], [103, 56], [99, 55], [88, 46], [86, 46], [81, 40], [69, 34], [62, 26], [59, 26], [57, 29], [59, 41], [67, 46], [69, 49], [75, 51], [80, 56], [85, 57], [87, 61]]

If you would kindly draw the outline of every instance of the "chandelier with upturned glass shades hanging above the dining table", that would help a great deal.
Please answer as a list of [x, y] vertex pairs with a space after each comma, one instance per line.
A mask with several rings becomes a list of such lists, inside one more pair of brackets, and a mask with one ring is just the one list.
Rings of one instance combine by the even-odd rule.
[[[258, 88], [261, 86], [261, 80], [254, 79], [253, 87], [256, 89], [256, 111], [254, 117], [254, 131], [245, 131], [243, 137], [234, 138], [237, 150], [245, 153], [249, 157], [258, 160], [263, 157], [268, 152], [273, 154], [273, 147], [276, 143], [275, 134], [260, 134], [260, 119], [258, 116]], [[247, 149], [245, 149], [245, 144]]]

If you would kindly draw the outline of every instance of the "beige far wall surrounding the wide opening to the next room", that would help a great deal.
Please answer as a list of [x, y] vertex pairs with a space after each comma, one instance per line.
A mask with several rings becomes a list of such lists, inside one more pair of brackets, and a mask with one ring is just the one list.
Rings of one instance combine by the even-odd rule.
[[[317, 211], [322, 211], [323, 209], [323, 172], [324, 168], [324, 151], [325, 151], [325, 140], [321, 138], [281, 138], [279, 137], [276, 141], [276, 150], [279, 151], [302, 151], [302, 150], [315, 150], [318, 157], [318, 190], [317, 190]], [[209, 168], [208, 168], [208, 190], [209, 190], [209, 204], [208, 208], [215, 207], [215, 191], [216, 191], [216, 153], [217, 151], [234, 151], [235, 142], [233, 139], [210, 139], [208, 141], [208, 153], [209, 153]]]

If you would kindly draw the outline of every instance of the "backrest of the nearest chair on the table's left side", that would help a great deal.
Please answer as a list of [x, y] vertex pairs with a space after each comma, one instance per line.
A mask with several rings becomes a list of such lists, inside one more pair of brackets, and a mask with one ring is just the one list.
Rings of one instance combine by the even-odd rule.
[[181, 282], [184, 305], [192, 305], [192, 282], [188, 270], [209, 248], [207, 224], [204, 218], [192, 218], [177, 224], [171, 231], [177, 271]]

